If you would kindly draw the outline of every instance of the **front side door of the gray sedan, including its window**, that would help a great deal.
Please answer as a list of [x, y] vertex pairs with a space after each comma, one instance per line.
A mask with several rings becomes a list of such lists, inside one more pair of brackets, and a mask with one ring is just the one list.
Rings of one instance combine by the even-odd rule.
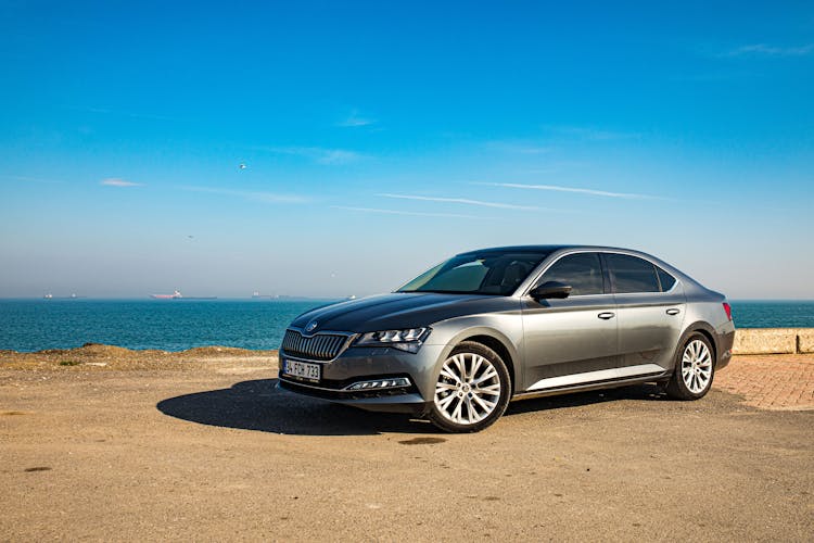
[[619, 366], [615, 303], [598, 253], [560, 257], [535, 286], [546, 281], [560, 281], [573, 290], [564, 300], [523, 298], [524, 390], [609, 377]]

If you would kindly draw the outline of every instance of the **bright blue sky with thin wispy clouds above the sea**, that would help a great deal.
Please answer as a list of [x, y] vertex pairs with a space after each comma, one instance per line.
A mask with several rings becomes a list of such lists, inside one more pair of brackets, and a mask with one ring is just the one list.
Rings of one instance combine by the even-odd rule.
[[575, 242], [814, 298], [811, 2], [2, 2], [0, 63], [0, 296]]

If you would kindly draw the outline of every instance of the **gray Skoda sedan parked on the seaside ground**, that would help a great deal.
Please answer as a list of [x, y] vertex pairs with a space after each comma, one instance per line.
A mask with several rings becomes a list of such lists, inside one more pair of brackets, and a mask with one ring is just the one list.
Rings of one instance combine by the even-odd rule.
[[698, 400], [729, 362], [734, 337], [723, 294], [648, 254], [484, 249], [396, 292], [298, 316], [278, 386], [473, 432], [525, 397], [658, 382]]

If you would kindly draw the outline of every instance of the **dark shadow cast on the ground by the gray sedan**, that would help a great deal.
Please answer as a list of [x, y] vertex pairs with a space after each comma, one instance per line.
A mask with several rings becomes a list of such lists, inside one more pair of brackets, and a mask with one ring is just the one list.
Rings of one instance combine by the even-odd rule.
[[[370, 413], [276, 388], [277, 379], [234, 383], [229, 389], [169, 397], [156, 404], [165, 415], [201, 425], [292, 435], [377, 435], [441, 433], [434, 426], [403, 414]], [[576, 407], [615, 400], [665, 399], [656, 386], [551, 396], [509, 405], [506, 416]]]

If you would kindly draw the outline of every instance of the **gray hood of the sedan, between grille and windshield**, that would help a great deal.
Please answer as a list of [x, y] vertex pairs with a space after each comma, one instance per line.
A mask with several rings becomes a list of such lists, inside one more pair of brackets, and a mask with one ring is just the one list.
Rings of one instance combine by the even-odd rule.
[[507, 296], [394, 292], [317, 307], [296, 317], [291, 326], [306, 331], [371, 332], [430, 326], [448, 318], [484, 312], [517, 310]]

